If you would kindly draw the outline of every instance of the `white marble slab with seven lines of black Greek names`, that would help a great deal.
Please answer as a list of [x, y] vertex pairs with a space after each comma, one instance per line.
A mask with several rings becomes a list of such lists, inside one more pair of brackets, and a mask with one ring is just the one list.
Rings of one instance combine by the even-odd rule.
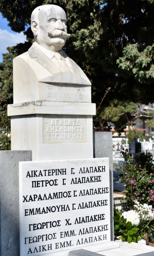
[[19, 207], [21, 256], [103, 250], [111, 241], [109, 158], [19, 162]]

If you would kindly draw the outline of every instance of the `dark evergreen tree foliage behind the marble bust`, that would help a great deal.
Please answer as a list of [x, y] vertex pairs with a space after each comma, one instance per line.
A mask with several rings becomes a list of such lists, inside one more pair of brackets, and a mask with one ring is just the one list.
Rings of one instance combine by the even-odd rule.
[[99, 104], [108, 87], [111, 91], [102, 108], [114, 99], [154, 102], [154, 0], [0, 0], [9, 26], [24, 31], [28, 40], [4, 55], [0, 87], [5, 74], [12, 72], [12, 59], [33, 42], [31, 13], [42, 4], [57, 4], [65, 10], [71, 38], [64, 51], [82, 69], [90, 66], [93, 102]]

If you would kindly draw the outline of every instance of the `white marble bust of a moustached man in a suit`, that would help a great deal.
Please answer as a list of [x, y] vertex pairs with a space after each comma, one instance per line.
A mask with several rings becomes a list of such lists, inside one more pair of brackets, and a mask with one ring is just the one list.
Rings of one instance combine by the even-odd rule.
[[[32, 98], [38, 100], [34, 97], [34, 88], [37, 90], [39, 83], [91, 85], [81, 68], [62, 50], [70, 34], [67, 33], [66, 14], [60, 6], [38, 6], [32, 12], [31, 29], [35, 42], [13, 61], [14, 103]], [[24, 93], [24, 101], [22, 96], [20, 102], [16, 97], [19, 91]], [[32, 97], [25, 97], [27, 91]]]

